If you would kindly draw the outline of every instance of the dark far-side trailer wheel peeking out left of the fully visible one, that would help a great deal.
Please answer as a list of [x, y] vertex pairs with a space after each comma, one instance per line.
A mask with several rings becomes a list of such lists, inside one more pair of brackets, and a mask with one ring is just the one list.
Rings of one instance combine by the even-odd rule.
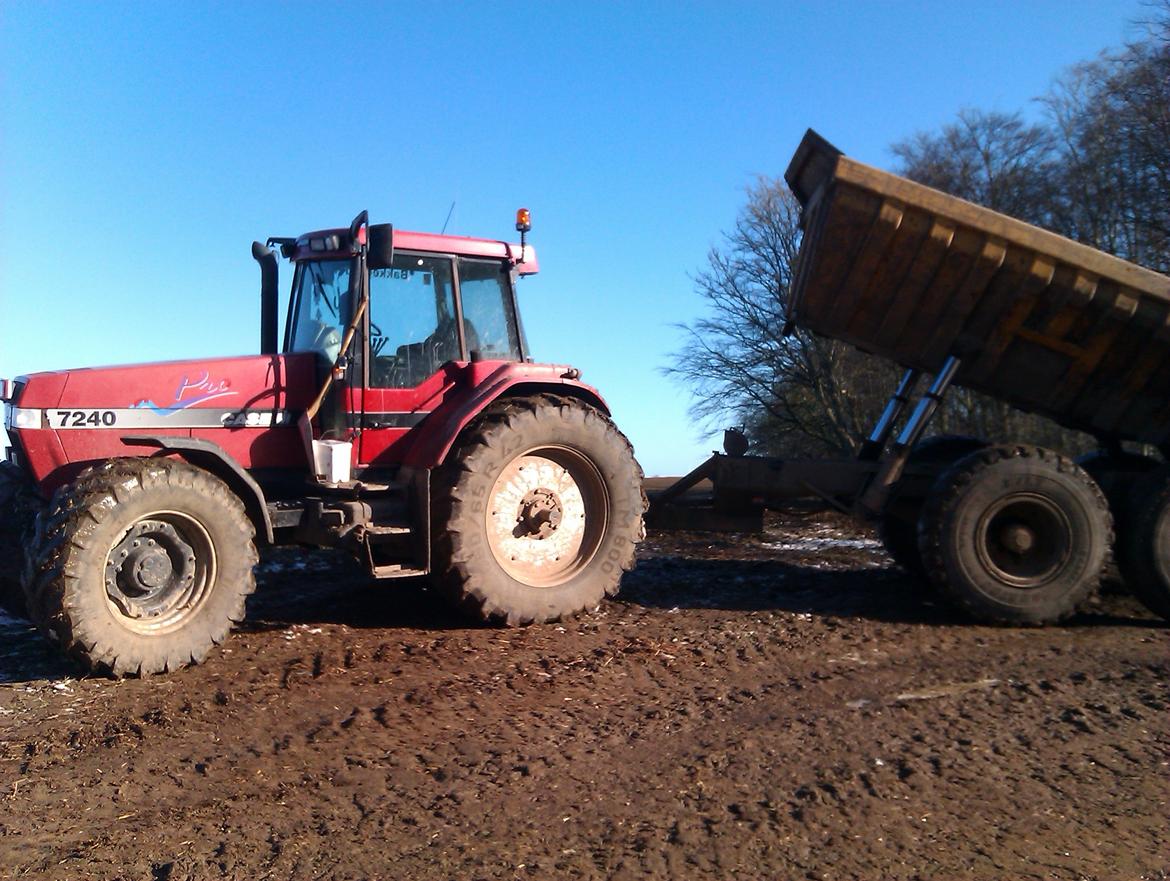
[[938, 434], [918, 441], [906, 462], [907, 469], [930, 468], [928, 481], [903, 480], [894, 488], [878, 522], [878, 537], [894, 562], [911, 574], [925, 577], [918, 552], [918, 516], [930, 486], [938, 474], [963, 456], [986, 448], [987, 441], [962, 434]]

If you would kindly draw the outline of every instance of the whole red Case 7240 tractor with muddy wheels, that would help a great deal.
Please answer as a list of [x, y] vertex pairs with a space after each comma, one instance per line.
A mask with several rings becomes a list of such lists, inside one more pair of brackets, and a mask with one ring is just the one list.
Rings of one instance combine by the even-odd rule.
[[[516, 228], [519, 245], [363, 212], [256, 242], [260, 355], [5, 380], [5, 605], [125, 675], [221, 642], [257, 544], [429, 574], [510, 625], [617, 592], [644, 532], [641, 469], [578, 370], [529, 360], [526, 211]], [[274, 246], [292, 263], [281, 346]]]

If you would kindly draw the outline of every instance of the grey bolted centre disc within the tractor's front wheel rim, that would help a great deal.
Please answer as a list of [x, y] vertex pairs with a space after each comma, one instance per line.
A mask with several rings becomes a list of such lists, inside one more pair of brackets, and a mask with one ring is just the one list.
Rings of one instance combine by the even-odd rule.
[[181, 608], [194, 583], [194, 549], [166, 521], [139, 521], [106, 557], [105, 593], [128, 618]]

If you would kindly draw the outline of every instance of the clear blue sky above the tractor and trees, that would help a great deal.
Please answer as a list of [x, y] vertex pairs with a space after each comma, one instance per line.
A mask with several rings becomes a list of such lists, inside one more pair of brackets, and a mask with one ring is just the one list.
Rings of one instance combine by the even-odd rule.
[[[0, 4], [0, 376], [255, 351], [253, 239], [374, 222], [511, 238], [541, 360], [647, 474], [716, 438], [659, 370], [691, 276], [806, 128], [889, 167], [1023, 110], [1140, 0]], [[288, 273], [283, 281], [288, 282]]]

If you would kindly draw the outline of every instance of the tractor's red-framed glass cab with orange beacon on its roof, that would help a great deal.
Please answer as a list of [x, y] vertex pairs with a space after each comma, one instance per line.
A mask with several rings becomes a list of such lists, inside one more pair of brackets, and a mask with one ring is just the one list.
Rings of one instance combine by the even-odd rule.
[[[282, 351], [314, 353], [318, 365], [321, 394], [302, 420], [318, 479], [346, 472], [326, 473], [324, 452], [358, 470], [401, 462], [410, 429], [452, 393], [463, 367], [528, 358], [515, 284], [538, 268], [523, 241], [529, 228], [522, 209], [516, 246], [369, 226], [363, 212], [347, 229], [269, 239], [292, 263]], [[267, 274], [264, 288], [271, 301]], [[275, 308], [264, 312], [274, 324]], [[275, 330], [263, 337], [270, 346]]]

